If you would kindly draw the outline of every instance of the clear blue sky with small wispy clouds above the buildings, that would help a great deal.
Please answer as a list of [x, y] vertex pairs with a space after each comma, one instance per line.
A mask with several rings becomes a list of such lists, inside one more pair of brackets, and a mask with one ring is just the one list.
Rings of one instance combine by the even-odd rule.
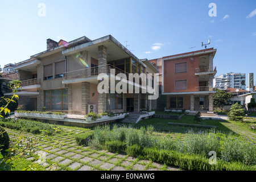
[[[38, 15], [39, 3], [46, 16]], [[217, 16], [209, 16], [210, 3]], [[111, 34], [139, 59], [196, 51], [211, 39], [217, 75], [256, 75], [255, 0], [3, 1], [0, 26], [1, 67], [45, 51], [48, 38], [69, 42]]]

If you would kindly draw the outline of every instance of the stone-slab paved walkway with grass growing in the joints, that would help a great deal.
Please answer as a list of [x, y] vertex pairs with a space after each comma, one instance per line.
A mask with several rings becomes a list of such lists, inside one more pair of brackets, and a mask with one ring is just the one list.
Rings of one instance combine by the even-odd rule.
[[[6, 129], [10, 139], [18, 137], [20, 131]], [[28, 157], [27, 160], [34, 161], [46, 167], [46, 170], [75, 170], [75, 171], [178, 171], [176, 167], [166, 166], [151, 162], [150, 160], [141, 160], [123, 154], [114, 154], [106, 150], [97, 150], [93, 147], [82, 147], [76, 143], [75, 134], [80, 133], [80, 130], [64, 129], [68, 135], [59, 135], [44, 140], [38, 145], [36, 154], [42, 157], [43, 160]], [[27, 137], [36, 138], [39, 135], [31, 133], [23, 133]], [[55, 164], [52, 167], [52, 164]]]

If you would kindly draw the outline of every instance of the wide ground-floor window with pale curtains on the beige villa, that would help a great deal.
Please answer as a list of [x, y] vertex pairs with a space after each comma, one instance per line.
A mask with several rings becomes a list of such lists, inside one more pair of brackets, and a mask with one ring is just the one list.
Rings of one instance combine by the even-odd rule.
[[44, 106], [48, 110], [68, 110], [68, 89], [44, 90]]

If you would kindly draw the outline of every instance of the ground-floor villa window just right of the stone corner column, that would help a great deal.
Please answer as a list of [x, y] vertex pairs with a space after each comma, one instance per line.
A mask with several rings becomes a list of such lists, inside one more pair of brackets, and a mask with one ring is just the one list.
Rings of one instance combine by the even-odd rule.
[[123, 109], [123, 95], [118, 93], [108, 94], [107, 109]]

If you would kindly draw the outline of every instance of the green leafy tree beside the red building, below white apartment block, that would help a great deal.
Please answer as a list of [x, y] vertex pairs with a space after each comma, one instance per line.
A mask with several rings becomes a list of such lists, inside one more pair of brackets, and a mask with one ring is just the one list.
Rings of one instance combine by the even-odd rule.
[[228, 102], [231, 97], [231, 93], [225, 92], [225, 90], [216, 89], [216, 93], [213, 94], [213, 104], [223, 110], [224, 104]]

